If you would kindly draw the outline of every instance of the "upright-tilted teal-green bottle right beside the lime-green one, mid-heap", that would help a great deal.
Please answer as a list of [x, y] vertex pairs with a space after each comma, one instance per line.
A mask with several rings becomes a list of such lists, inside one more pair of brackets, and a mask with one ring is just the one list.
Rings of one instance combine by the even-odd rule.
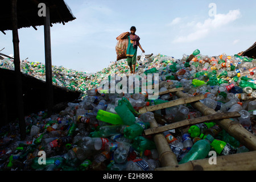
[[130, 109], [127, 107], [126, 103], [122, 103], [115, 107], [115, 111], [117, 112], [117, 114], [122, 119], [125, 125], [131, 126], [135, 124], [136, 118], [134, 114], [130, 111]]

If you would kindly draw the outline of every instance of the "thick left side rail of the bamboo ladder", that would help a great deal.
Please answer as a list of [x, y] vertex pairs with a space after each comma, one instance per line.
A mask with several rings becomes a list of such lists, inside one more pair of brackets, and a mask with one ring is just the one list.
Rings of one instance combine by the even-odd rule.
[[[155, 119], [150, 122], [150, 127], [157, 127], [158, 123], [156, 123]], [[159, 161], [162, 167], [166, 166], [175, 166], [177, 165], [177, 159], [174, 152], [172, 152], [166, 138], [163, 134], [154, 135], [154, 142], [156, 145], [156, 150], [158, 150]]]

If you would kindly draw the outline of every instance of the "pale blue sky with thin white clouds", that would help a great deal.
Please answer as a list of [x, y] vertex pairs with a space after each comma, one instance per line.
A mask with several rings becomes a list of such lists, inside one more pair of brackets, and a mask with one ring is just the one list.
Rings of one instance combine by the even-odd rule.
[[[65, 0], [76, 17], [51, 27], [52, 65], [97, 72], [115, 61], [117, 36], [137, 27], [146, 54], [181, 59], [199, 49], [202, 55], [234, 55], [256, 41], [256, 1], [84, 1]], [[210, 6], [214, 3], [216, 6]], [[214, 9], [216, 7], [216, 9]], [[216, 10], [216, 11], [213, 11]], [[216, 14], [212, 14], [212, 13]], [[19, 29], [20, 59], [44, 60], [43, 26]], [[0, 32], [1, 53], [13, 54], [12, 32]], [[138, 54], [141, 49], [138, 48]]]

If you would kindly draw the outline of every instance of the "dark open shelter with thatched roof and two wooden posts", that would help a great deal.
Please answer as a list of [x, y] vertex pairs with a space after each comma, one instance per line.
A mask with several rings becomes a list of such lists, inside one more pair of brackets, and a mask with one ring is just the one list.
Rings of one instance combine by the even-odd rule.
[[[40, 5], [41, 6], [40, 6]], [[50, 27], [53, 23], [67, 23], [75, 18], [71, 9], [63, 0], [6, 0], [1, 2], [2, 10], [0, 11], [0, 31], [13, 31], [14, 47], [14, 68], [15, 68], [15, 85], [16, 101], [19, 108], [19, 127], [20, 138], [26, 137], [26, 125], [24, 121], [23, 97], [22, 97], [22, 76], [20, 73], [19, 57], [19, 36], [18, 29], [24, 27], [44, 26], [44, 46], [46, 57], [46, 95], [48, 115], [52, 113], [53, 107], [53, 90], [52, 90], [52, 63], [51, 63], [51, 34]], [[39, 11], [42, 13], [40, 14]], [[43, 16], [41, 16], [43, 15]]]

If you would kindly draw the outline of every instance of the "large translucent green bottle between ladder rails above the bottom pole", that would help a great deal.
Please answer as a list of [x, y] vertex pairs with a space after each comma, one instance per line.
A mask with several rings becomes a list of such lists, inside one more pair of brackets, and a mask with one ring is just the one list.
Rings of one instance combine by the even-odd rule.
[[212, 135], [207, 135], [205, 139], [198, 140], [188, 154], [179, 162], [179, 164], [187, 163], [191, 160], [204, 159], [207, 157], [210, 151], [210, 143], [212, 143], [214, 138]]

